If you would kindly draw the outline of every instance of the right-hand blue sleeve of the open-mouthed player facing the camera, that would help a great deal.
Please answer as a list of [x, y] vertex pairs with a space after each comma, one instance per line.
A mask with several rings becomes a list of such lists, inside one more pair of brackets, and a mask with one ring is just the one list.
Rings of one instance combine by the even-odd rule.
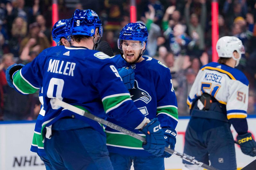
[[156, 117], [161, 123], [161, 127], [175, 129], [178, 124], [178, 105], [172, 86], [172, 76], [167, 68], [159, 74], [156, 84], [156, 96]]

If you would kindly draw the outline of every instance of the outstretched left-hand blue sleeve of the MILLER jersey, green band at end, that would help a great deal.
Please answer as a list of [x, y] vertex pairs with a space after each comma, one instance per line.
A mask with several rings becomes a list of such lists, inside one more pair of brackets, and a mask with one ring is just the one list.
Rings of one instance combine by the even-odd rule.
[[[32, 62], [26, 64], [22, 69], [16, 71], [13, 77], [13, 85], [22, 94], [32, 94], [42, 87], [42, 68], [46, 58], [45, 49]], [[42, 60], [43, 59], [43, 60]]]

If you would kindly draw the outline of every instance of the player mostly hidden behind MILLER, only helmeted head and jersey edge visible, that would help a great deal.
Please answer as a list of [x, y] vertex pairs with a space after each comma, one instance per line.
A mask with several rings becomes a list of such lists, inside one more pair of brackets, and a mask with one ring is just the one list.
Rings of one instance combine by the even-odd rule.
[[[72, 46], [71, 42], [71, 32], [70, 32], [70, 19], [62, 19], [57, 21], [52, 28], [52, 39], [55, 41], [56, 45], [64, 45], [66, 47]], [[42, 129], [42, 120], [45, 115], [44, 110], [44, 101], [43, 101], [43, 89], [39, 90], [39, 100], [42, 104], [39, 115], [36, 119], [36, 125], [34, 130], [34, 136], [31, 144], [30, 151], [36, 152], [40, 159], [44, 162], [46, 170], [52, 169], [52, 165], [44, 151], [44, 144], [41, 140], [41, 129]]]

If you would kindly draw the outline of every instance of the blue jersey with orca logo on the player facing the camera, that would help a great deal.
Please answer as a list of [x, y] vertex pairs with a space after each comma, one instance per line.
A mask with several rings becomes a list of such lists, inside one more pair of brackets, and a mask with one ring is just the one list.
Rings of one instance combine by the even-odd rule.
[[[121, 55], [116, 55], [112, 59], [118, 68], [129, 67], [134, 70], [135, 83], [129, 92], [141, 113], [148, 119], [157, 117], [162, 128], [175, 129], [178, 123], [178, 109], [170, 70], [156, 59], [142, 57], [144, 60], [134, 65], [124, 61]], [[136, 119], [133, 117], [134, 121]], [[108, 121], [145, 136], [139, 130], [133, 130], [114, 119], [109, 118]], [[142, 142], [138, 139], [108, 127], [105, 132], [109, 152], [131, 156], [152, 156], [142, 148]]]

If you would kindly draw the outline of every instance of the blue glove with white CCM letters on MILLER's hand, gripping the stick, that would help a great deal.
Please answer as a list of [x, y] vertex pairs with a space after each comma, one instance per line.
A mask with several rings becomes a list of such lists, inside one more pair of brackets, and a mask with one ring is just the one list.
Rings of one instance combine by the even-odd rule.
[[152, 153], [155, 156], [161, 156], [164, 153], [165, 139], [164, 133], [160, 126], [160, 122], [157, 118], [152, 119], [145, 127], [142, 128], [142, 132], [146, 134], [147, 143], [143, 143], [142, 147]]

